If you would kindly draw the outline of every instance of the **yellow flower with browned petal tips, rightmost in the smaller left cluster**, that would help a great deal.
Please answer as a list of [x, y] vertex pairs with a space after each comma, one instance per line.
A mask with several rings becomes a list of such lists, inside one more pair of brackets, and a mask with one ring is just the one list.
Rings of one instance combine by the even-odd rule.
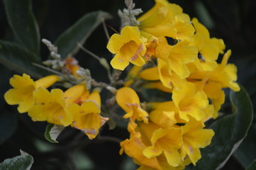
[[81, 106], [77, 103], [71, 103], [67, 110], [72, 113], [74, 118], [72, 126], [82, 130], [92, 140], [98, 135], [99, 128], [106, 123], [108, 118], [101, 117], [100, 115], [101, 97], [98, 91], [94, 91], [87, 96], [87, 100], [84, 101], [84, 99], [82, 99]]

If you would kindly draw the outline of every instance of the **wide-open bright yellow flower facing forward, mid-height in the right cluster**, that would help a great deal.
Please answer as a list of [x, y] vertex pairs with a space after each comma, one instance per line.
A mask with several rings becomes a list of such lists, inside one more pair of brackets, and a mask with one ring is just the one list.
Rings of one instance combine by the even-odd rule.
[[208, 98], [204, 91], [196, 91], [196, 87], [191, 82], [184, 84], [182, 88], [175, 88], [172, 94], [175, 106], [179, 108], [179, 117], [189, 121], [189, 116], [196, 120], [206, 117], [204, 109], [208, 106]]

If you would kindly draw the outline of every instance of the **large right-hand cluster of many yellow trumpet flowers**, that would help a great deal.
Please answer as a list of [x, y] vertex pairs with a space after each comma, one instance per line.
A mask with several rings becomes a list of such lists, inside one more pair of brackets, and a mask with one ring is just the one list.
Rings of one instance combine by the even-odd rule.
[[[124, 26], [113, 34], [107, 48], [114, 54], [111, 65], [124, 70], [134, 64], [126, 87], [118, 89], [116, 101], [129, 118], [130, 139], [121, 142], [139, 169], [184, 169], [201, 158], [199, 148], [214, 135], [204, 123], [217, 118], [224, 103], [223, 88], [239, 91], [237, 69], [228, 64], [223, 40], [211, 38], [206, 27], [190, 19], [177, 4], [155, 0], [138, 18], [138, 26]], [[223, 55], [218, 63], [219, 55]], [[144, 103], [135, 90], [136, 81], [145, 89], [169, 94], [165, 102]]]

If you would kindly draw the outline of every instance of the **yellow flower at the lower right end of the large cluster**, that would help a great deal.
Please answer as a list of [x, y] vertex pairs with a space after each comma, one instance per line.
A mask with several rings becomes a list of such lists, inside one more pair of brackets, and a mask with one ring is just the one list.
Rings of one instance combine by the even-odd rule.
[[210, 145], [214, 132], [213, 130], [203, 129], [204, 124], [196, 120], [190, 120], [181, 128], [183, 130], [183, 149], [189, 156], [191, 162], [195, 165], [201, 158], [199, 148]]

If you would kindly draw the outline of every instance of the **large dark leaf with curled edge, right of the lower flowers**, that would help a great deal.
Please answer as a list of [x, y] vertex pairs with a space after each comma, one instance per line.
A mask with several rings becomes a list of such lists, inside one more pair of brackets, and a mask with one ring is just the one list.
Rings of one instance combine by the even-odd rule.
[[221, 169], [243, 142], [252, 123], [252, 103], [243, 87], [239, 92], [230, 92], [230, 101], [235, 113], [219, 118], [212, 125], [215, 135], [211, 145], [201, 149], [202, 158], [194, 169]]

